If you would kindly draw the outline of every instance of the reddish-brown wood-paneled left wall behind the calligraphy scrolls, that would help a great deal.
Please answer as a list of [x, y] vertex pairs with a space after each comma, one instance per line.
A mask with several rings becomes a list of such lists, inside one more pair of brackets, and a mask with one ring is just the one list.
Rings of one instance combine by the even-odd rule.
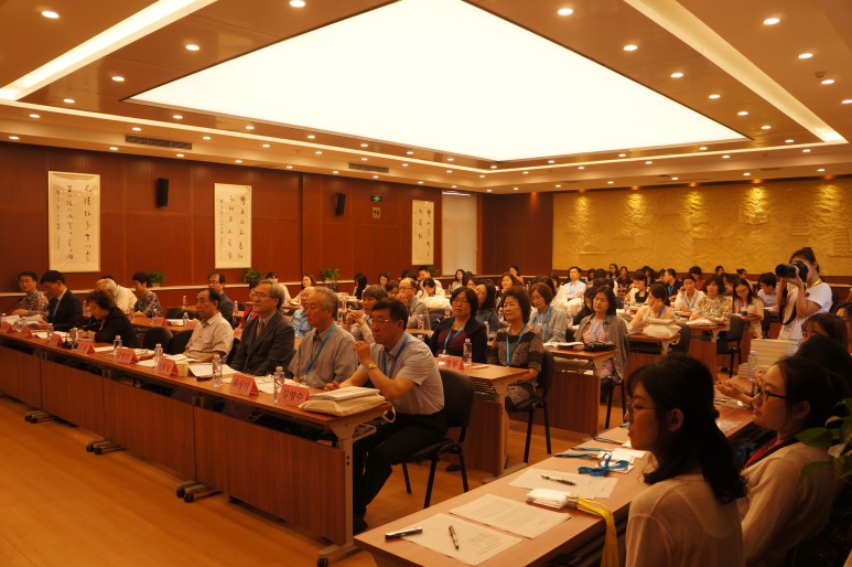
[[[399, 275], [411, 268], [416, 199], [435, 202], [434, 264], [441, 265], [440, 189], [0, 143], [0, 292], [18, 290], [21, 270], [48, 269], [48, 171], [100, 174], [101, 266], [98, 272], [67, 274], [73, 289], [91, 288], [100, 274], [129, 286], [140, 269], [164, 272], [165, 286], [203, 286], [214, 269], [214, 183], [251, 185], [252, 267], [276, 270], [283, 281], [299, 281], [305, 271], [319, 276], [323, 267], [338, 268], [342, 279], [363, 271], [370, 281], [381, 270]], [[170, 181], [164, 208], [154, 202], [159, 178]], [[334, 214], [335, 193], [346, 194], [342, 216]], [[371, 203], [373, 194], [384, 201]], [[373, 218], [373, 206], [380, 207], [380, 218]], [[244, 270], [223, 272], [230, 284], [241, 281]], [[0, 301], [3, 308], [8, 302]]]

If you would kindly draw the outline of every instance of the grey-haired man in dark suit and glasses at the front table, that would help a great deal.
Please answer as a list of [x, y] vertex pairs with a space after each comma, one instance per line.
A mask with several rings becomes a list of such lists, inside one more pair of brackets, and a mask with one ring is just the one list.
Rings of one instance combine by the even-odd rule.
[[252, 311], [257, 314], [242, 330], [237, 354], [229, 366], [236, 371], [265, 376], [276, 366], [287, 368], [293, 357], [293, 325], [281, 314], [284, 290], [271, 279], [255, 288]]

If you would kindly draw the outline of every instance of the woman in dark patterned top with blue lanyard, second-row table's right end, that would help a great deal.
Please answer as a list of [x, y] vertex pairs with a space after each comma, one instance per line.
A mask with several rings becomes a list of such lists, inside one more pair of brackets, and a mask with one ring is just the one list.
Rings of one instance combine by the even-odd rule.
[[509, 327], [497, 331], [494, 343], [488, 346], [486, 361], [488, 364], [527, 368], [527, 373], [508, 388], [506, 407], [514, 407], [536, 394], [536, 377], [541, 372], [544, 343], [538, 329], [529, 324], [532, 302], [526, 288], [510, 287], [504, 296], [503, 317]]

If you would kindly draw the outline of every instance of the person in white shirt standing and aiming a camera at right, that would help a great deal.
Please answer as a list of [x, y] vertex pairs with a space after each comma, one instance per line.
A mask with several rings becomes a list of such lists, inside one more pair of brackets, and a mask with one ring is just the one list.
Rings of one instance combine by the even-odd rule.
[[779, 278], [781, 293], [778, 339], [800, 341], [805, 321], [831, 309], [831, 287], [820, 278], [817, 256], [808, 246], [794, 252], [789, 265], [776, 266], [775, 275]]

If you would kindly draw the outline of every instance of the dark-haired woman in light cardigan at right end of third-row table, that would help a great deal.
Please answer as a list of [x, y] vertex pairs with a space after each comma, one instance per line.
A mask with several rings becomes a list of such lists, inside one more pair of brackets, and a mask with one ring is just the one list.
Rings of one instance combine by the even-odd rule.
[[601, 286], [594, 290], [592, 310], [594, 312], [591, 315], [580, 321], [574, 332], [574, 341], [615, 344], [616, 355], [604, 362], [601, 378], [624, 376], [629, 352], [627, 324], [615, 314], [615, 293], [610, 286]]

